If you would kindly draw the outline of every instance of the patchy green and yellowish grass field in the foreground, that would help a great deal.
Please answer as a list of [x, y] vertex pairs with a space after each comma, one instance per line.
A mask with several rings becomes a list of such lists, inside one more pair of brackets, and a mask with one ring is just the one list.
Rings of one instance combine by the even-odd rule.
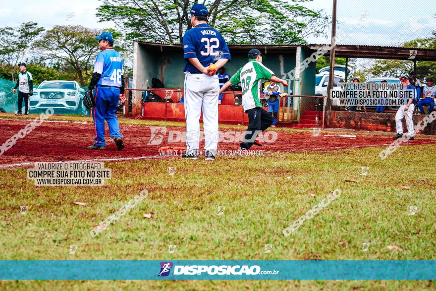
[[[383, 161], [378, 156], [381, 149], [275, 152], [219, 157], [214, 163], [182, 159], [106, 163], [112, 178], [101, 187], [35, 186], [25, 168], [2, 170], [1, 259], [435, 259], [436, 178], [431, 161], [436, 148], [402, 146]], [[176, 167], [174, 175], [168, 175], [168, 167]], [[361, 175], [361, 167], [369, 167], [368, 175]], [[341, 189], [340, 197], [295, 233], [283, 235], [284, 228], [336, 188]], [[138, 206], [97, 238], [89, 235], [93, 226], [143, 189], [150, 194]], [[19, 214], [20, 205], [29, 207], [26, 215]], [[222, 215], [218, 206], [225, 207]], [[415, 215], [409, 215], [410, 206], [417, 207]], [[144, 218], [149, 212], [151, 219]], [[366, 252], [364, 242], [370, 243]], [[167, 253], [169, 244], [177, 245], [172, 254]], [[270, 253], [264, 252], [265, 244], [272, 244]], [[68, 254], [70, 245], [78, 246], [75, 254]], [[0, 282], [0, 290], [295, 288], [435, 290], [436, 283]]]

